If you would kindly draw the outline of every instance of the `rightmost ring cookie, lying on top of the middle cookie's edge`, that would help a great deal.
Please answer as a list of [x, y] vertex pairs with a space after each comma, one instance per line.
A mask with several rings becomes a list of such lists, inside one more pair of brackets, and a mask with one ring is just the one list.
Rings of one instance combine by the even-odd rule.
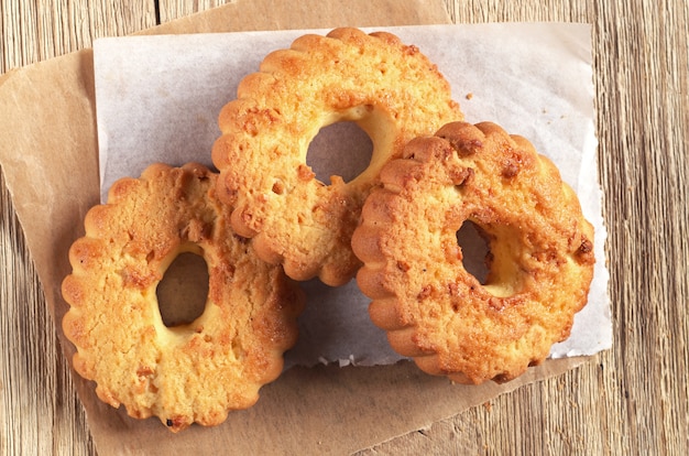
[[[493, 123], [456, 122], [387, 164], [352, 238], [357, 280], [392, 347], [462, 383], [507, 381], [566, 339], [587, 303], [593, 229], [555, 165]], [[457, 231], [490, 247], [482, 284]]]

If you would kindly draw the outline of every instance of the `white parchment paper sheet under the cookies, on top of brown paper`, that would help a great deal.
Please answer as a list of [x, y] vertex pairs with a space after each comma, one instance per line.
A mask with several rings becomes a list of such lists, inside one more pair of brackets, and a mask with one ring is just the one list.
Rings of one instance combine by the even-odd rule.
[[[384, 30], [415, 44], [438, 65], [467, 121], [493, 121], [526, 137], [575, 188], [595, 227], [597, 267], [589, 304], [577, 314], [570, 338], [553, 347], [551, 357], [593, 355], [610, 348], [590, 26], [495, 23]], [[307, 32], [328, 30], [97, 40], [94, 58], [103, 200], [116, 180], [138, 176], [153, 162], [211, 165], [210, 150], [220, 134], [217, 116], [236, 97], [241, 78], [258, 70], [267, 53], [288, 47]], [[317, 143], [347, 140], [353, 143], [347, 142], [343, 150], [370, 148], [365, 135], [347, 129], [324, 129], [314, 141], [307, 161], [317, 176], [343, 166], [320, 162], [324, 155]], [[360, 155], [365, 159], [365, 153]], [[287, 366], [368, 366], [401, 359], [390, 349], [385, 334], [370, 322], [369, 300], [354, 281], [338, 289], [318, 281], [304, 286], [308, 304]]]

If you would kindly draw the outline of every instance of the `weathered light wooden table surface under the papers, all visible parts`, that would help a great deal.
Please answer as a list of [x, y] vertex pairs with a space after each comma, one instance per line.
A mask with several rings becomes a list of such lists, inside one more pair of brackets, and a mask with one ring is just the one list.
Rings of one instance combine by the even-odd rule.
[[[0, 0], [0, 73], [226, 2]], [[593, 25], [613, 349], [363, 453], [689, 454], [687, 1], [446, 3], [457, 23]], [[95, 454], [0, 182], [0, 452]]]

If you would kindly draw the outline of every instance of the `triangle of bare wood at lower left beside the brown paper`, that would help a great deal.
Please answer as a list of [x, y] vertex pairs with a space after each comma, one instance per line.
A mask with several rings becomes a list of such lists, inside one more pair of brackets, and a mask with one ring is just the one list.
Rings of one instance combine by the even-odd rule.
[[94, 454], [3, 176], [0, 219], [0, 454]]

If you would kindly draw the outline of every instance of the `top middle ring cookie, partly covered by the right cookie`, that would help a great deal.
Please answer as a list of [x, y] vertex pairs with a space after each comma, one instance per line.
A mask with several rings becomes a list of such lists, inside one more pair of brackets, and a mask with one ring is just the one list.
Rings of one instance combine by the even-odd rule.
[[[219, 194], [261, 258], [293, 279], [340, 285], [360, 265], [351, 234], [380, 169], [412, 138], [461, 119], [449, 84], [417, 47], [357, 29], [305, 35], [266, 56], [222, 109], [212, 150]], [[331, 176], [325, 185], [306, 155], [319, 130], [338, 121], [369, 134], [372, 158], [351, 182]]]

